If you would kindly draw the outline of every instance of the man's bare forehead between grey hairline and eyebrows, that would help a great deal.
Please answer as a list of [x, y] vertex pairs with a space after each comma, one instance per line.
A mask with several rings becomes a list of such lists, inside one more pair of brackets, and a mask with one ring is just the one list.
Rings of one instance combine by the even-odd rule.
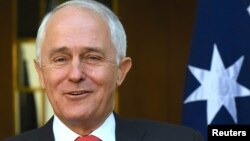
[[63, 7], [51, 16], [43, 46], [62, 46], [64, 43], [112, 45], [111, 33], [106, 21], [96, 12], [81, 7]]

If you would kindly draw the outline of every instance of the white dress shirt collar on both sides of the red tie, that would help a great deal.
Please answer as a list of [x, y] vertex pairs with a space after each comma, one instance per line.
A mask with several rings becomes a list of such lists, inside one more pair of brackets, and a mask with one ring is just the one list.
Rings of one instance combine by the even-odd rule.
[[[74, 141], [80, 136], [64, 125], [57, 116], [54, 116], [53, 133], [55, 141]], [[104, 123], [94, 130], [90, 135], [94, 135], [102, 141], [115, 141], [114, 114], [111, 113]]]

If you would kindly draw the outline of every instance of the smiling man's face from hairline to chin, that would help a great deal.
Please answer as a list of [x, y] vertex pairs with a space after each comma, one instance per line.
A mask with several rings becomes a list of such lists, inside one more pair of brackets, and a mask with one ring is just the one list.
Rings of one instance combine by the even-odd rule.
[[98, 15], [73, 7], [57, 11], [41, 50], [41, 67], [36, 65], [41, 85], [62, 121], [92, 122], [112, 112], [115, 88], [124, 77], [108, 26]]

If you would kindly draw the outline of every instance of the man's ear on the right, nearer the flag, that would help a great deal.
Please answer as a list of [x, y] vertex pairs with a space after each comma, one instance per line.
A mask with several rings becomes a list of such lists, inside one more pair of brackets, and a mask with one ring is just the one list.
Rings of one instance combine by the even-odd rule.
[[120, 65], [119, 65], [119, 70], [118, 70], [118, 79], [116, 81], [116, 84], [120, 86], [125, 79], [128, 71], [130, 70], [132, 66], [132, 60], [129, 57], [125, 57], [122, 59]]

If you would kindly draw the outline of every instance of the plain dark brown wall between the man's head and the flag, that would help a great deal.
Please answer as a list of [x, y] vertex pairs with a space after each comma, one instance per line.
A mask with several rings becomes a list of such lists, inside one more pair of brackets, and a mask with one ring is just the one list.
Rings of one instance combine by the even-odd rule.
[[120, 0], [119, 16], [133, 59], [120, 114], [180, 123], [195, 0]]

